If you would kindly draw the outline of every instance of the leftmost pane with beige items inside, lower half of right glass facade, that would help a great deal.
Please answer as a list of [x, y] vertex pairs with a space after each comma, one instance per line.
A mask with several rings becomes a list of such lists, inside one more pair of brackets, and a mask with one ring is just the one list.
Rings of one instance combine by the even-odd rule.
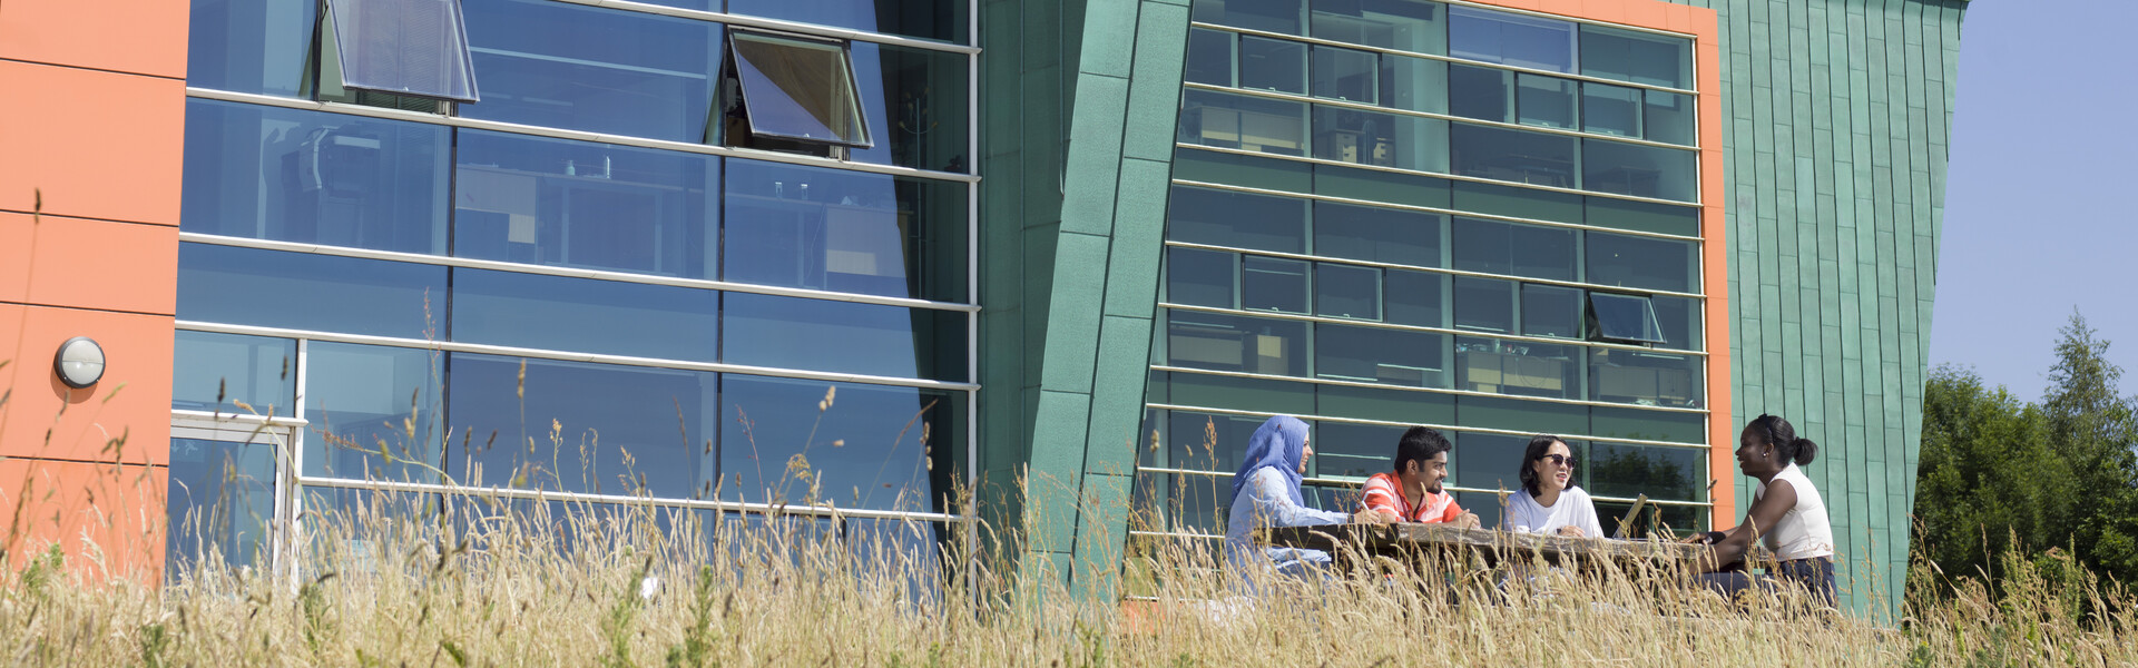
[[1169, 366], [1306, 375], [1302, 321], [1169, 310], [1165, 336]]

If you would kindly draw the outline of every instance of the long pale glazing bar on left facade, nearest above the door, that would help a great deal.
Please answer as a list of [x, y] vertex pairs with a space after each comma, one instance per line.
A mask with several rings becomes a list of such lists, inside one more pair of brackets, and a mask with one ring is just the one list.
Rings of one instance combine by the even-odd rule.
[[682, 360], [654, 360], [654, 358], [626, 358], [626, 355], [597, 355], [597, 353], [545, 351], [545, 349], [522, 349], [522, 347], [502, 347], [502, 345], [475, 345], [475, 343], [451, 343], [451, 340], [421, 340], [421, 338], [398, 338], [398, 336], [336, 334], [336, 332], [254, 328], [254, 325], [227, 325], [227, 323], [201, 323], [201, 321], [177, 321], [177, 330], [186, 330], [186, 332], [220, 332], [220, 334], [248, 334], [248, 336], [282, 336], [282, 338], [331, 340], [331, 343], [361, 343], [361, 345], [385, 345], [385, 347], [413, 347], [413, 349], [436, 349], [436, 351], [449, 351], [449, 353], [483, 353], [483, 355], [537, 358], [537, 360], [562, 360], [562, 362], [594, 362], [594, 364], [620, 364], [620, 366], [650, 366], [650, 368], [740, 373], [740, 375], [761, 375], [761, 377], [778, 377], [778, 379], [806, 379], [806, 381], [834, 381], [834, 383], [868, 383], [868, 385], [926, 388], [926, 390], [962, 390], [962, 392], [979, 390], [977, 383], [949, 383], [949, 381], [872, 377], [872, 375], [851, 375], [851, 373], [765, 368], [765, 366], [744, 366], [744, 364], [723, 364], [723, 362], [682, 362]]

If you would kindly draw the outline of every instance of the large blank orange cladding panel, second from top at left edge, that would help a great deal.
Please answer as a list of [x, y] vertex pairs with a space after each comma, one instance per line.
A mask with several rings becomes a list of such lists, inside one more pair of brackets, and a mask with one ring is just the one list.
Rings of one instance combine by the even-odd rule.
[[0, 60], [0, 210], [177, 225], [184, 81]]

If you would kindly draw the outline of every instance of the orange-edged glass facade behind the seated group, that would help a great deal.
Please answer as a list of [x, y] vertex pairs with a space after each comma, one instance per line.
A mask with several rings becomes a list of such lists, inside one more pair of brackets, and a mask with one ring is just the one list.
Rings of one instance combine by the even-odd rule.
[[1426, 424], [1488, 525], [1535, 432], [1599, 514], [1704, 522], [1689, 36], [1375, 0], [1193, 21], [1137, 529], [1221, 531], [1272, 413], [1313, 426], [1326, 507]]

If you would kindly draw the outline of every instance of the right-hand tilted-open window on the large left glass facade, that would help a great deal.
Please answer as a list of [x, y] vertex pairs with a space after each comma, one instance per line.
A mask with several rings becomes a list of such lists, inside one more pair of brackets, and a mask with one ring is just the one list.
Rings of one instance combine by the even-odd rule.
[[729, 32], [750, 135], [868, 148], [853, 58], [838, 41]]

